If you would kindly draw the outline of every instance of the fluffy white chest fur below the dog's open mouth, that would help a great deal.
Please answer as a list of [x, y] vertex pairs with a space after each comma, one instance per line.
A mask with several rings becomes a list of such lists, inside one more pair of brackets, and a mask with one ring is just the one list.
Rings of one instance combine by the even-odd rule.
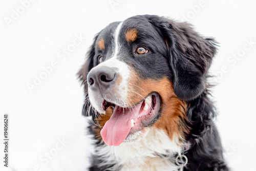
[[97, 153], [105, 161], [101, 165], [114, 164], [110, 170], [174, 171], [178, 170], [178, 166], [175, 165], [173, 154], [180, 153], [181, 149], [177, 141], [171, 141], [164, 131], [151, 128], [140, 140], [119, 146], [104, 145], [97, 148]]

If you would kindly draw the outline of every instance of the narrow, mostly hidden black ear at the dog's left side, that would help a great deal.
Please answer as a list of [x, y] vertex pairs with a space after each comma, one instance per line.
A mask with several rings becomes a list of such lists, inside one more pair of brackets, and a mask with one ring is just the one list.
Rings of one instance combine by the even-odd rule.
[[84, 102], [83, 111], [82, 111], [82, 115], [84, 116], [93, 115], [93, 109], [89, 108], [91, 104], [88, 99], [89, 96], [88, 96], [87, 74], [94, 67], [93, 58], [95, 55], [95, 44], [96, 44], [97, 38], [98, 38], [98, 35], [94, 37], [93, 45], [90, 47], [89, 51], [87, 52], [86, 63], [84, 63], [84, 65], [81, 67], [81, 69], [77, 73], [79, 80], [82, 82], [81, 86], [83, 86], [84, 88], [84, 94], [86, 97], [86, 101]]

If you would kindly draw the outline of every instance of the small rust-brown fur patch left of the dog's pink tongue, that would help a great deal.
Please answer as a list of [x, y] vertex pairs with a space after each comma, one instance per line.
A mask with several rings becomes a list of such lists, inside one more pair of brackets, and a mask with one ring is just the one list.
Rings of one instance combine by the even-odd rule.
[[110, 119], [112, 114], [113, 114], [113, 108], [110, 107], [110, 108], [106, 109], [105, 115], [97, 117], [97, 120], [94, 121], [95, 123], [98, 123], [100, 125], [100, 126], [98, 126], [98, 125], [93, 126], [97, 140], [99, 140], [99, 141], [102, 140], [100, 131], [101, 131], [102, 127], [105, 125], [106, 121], [108, 121]]

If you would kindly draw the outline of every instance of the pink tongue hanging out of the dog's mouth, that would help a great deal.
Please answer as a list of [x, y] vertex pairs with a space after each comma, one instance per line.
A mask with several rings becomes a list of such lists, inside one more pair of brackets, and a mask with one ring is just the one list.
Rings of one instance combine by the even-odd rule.
[[120, 145], [127, 137], [131, 130], [131, 120], [138, 118], [141, 104], [134, 106], [134, 108], [120, 108], [115, 107], [115, 110], [103, 129], [100, 131], [101, 137], [107, 145]]

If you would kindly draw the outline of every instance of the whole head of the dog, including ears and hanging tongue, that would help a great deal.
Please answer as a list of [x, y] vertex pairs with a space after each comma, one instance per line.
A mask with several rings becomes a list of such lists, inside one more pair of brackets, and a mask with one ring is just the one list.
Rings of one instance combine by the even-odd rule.
[[170, 139], [185, 138], [187, 105], [204, 91], [215, 51], [212, 39], [158, 16], [134, 16], [104, 28], [79, 71], [88, 83], [84, 109], [103, 126], [104, 142], [135, 141], [154, 128]]

